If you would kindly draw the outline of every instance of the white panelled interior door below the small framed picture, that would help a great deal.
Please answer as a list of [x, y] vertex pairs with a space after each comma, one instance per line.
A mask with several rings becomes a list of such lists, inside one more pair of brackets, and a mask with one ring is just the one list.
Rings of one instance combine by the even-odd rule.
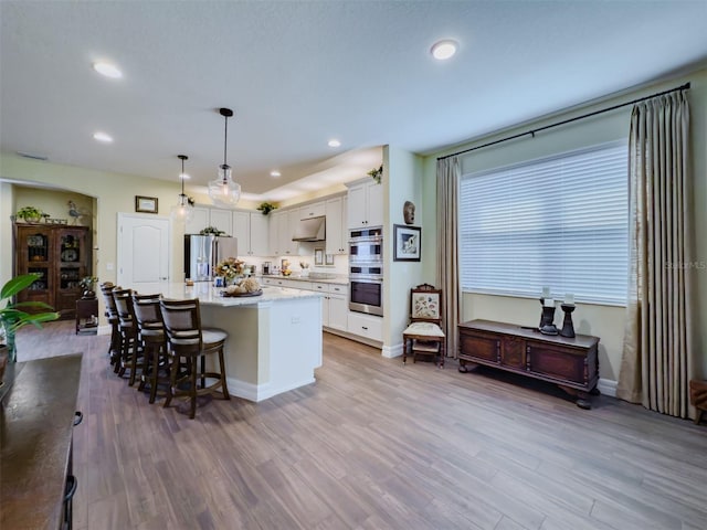
[[118, 285], [160, 293], [169, 282], [169, 219], [118, 213]]

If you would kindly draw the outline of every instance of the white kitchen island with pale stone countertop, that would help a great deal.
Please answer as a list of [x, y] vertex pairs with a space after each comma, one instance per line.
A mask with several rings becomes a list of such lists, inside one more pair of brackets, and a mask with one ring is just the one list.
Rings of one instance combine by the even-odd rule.
[[209, 283], [169, 284], [166, 298], [199, 298], [201, 322], [229, 333], [225, 372], [232, 395], [263, 401], [315, 382], [321, 365], [321, 295], [263, 286], [260, 296], [223, 297]]

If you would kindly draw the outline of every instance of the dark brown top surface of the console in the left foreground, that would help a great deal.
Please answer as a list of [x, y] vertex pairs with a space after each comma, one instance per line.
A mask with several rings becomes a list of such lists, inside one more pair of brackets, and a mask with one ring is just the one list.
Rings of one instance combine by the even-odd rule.
[[0, 528], [62, 527], [82, 354], [17, 363], [0, 404]]

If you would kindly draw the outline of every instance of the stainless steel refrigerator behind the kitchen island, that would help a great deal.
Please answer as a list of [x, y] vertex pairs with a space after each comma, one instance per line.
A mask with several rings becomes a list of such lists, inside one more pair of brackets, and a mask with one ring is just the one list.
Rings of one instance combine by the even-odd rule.
[[217, 263], [238, 257], [238, 240], [217, 235], [184, 235], [184, 278], [211, 282]]

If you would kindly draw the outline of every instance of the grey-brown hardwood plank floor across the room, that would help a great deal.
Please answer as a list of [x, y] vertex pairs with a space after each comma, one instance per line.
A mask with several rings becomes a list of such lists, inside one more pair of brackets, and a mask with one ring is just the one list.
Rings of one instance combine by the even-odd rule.
[[84, 352], [75, 529], [707, 528], [707, 426], [489, 370], [402, 365], [325, 333], [315, 384], [189, 420], [72, 322], [20, 360]]

